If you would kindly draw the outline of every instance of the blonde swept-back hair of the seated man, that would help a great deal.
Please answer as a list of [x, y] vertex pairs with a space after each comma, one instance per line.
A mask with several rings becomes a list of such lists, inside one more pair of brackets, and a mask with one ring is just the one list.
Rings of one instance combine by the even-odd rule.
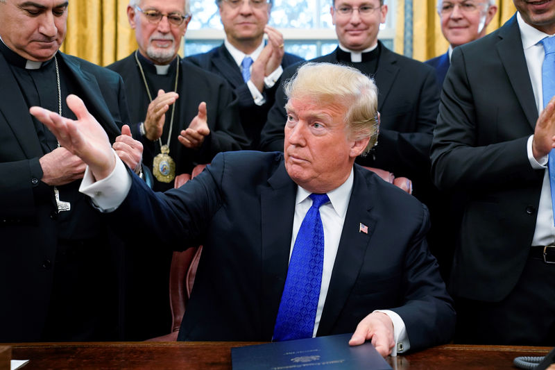
[[377, 87], [372, 78], [358, 69], [332, 63], [305, 63], [285, 82], [284, 90], [288, 99], [309, 98], [322, 105], [344, 108], [350, 138], [370, 137], [363, 155], [377, 143]]

